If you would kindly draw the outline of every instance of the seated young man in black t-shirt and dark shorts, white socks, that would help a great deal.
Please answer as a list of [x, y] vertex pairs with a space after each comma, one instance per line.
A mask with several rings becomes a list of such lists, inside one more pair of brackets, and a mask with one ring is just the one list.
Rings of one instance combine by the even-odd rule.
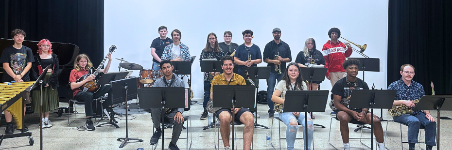
[[342, 66], [347, 76], [339, 79], [331, 89], [331, 92], [334, 94], [334, 106], [337, 108], [336, 118], [340, 121], [339, 127], [342, 141], [344, 142], [344, 150], [350, 150], [350, 144], [348, 143], [348, 122], [371, 124], [371, 117], [373, 117], [372, 128], [374, 128], [378, 148], [379, 150], [384, 150], [383, 128], [380, 118], [376, 115], [371, 116], [368, 108], [348, 108], [348, 102], [350, 101], [348, 96], [350, 96], [353, 90], [369, 90], [367, 83], [356, 77], [358, 75], [359, 65], [359, 60], [345, 60]]

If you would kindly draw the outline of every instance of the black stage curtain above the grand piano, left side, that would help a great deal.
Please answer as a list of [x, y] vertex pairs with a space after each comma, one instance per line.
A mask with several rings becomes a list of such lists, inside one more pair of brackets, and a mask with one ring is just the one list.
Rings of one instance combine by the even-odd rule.
[[104, 0], [1, 0], [0, 37], [11, 39], [14, 29], [25, 40], [78, 45], [94, 67], [104, 59]]

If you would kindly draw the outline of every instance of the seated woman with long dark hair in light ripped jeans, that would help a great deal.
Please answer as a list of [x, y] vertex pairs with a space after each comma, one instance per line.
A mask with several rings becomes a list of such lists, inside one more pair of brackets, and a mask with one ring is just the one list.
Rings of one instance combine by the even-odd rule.
[[[303, 130], [303, 140], [306, 143], [304, 150], [311, 150], [311, 143], [313, 141], [314, 126], [313, 119], [308, 113], [305, 116], [304, 113], [300, 112], [282, 112], [284, 109], [284, 98], [286, 96], [287, 90], [307, 90], [306, 83], [303, 81], [303, 77], [300, 74], [301, 70], [298, 67], [298, 63], [291, 62], [287, 65], [284, 75], [281, 81], [275, 87], [272, 95], [272, 101], [275, 102], [274, 109], [279, 113], [279, 119], [281, 119], [284, 124], [287, 125], [286, 130], [286, 143], [287, 150], [294, 150], [294, 143], [296, 138], [296, 131], [298, 130], [298, 123], [303, 126], [303, 128], [308, 128], [308, 137], [304, 134]], [[280, 97], [279, 97], [280, 96]], [[306, 126], [305, 117], [308, 117], [308, 125]], [[306, 148], [307, 147], [307, 148]]]

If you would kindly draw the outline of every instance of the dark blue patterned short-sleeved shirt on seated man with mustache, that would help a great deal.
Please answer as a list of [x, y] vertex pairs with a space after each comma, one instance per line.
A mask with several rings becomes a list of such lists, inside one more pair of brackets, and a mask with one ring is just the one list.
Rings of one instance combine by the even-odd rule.
[[[424, 87], [421, 84], [412, 80], [408, 87], [402, 78], [399, 81], [392, 82], [388, 90], [397, 90], [397, 95], [394, 100], [414, 101], [425, 95]], [[413, 111], [413, 115], [417, 114], [419, 114], [419, 111]]]

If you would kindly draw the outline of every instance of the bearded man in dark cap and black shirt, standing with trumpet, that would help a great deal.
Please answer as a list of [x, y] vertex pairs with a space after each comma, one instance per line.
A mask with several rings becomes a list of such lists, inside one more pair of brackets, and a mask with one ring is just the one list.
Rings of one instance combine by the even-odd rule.
[[[284, 71], [286, 69], [286, 62], [292, 61], [292, 53], [287, 43], [283, 42], [281, 37], [281, 30], [279, 28], [273, 29], [273, 40], [267, 43], [263, 52], [263, 60], [270, 66], [270, 77], [267, 79], [267, 104], [268, 117], [273, 118], [275, 110], [273, 110], [272, 95], [275, 90], [276, 80], [281, 81]], [[278, 57], [276, 57], [278, 56]], [[275, 59], [276, 58], [276, 59]], [[279, 70], [275, 70], [275, 65], [279, 65]]]

